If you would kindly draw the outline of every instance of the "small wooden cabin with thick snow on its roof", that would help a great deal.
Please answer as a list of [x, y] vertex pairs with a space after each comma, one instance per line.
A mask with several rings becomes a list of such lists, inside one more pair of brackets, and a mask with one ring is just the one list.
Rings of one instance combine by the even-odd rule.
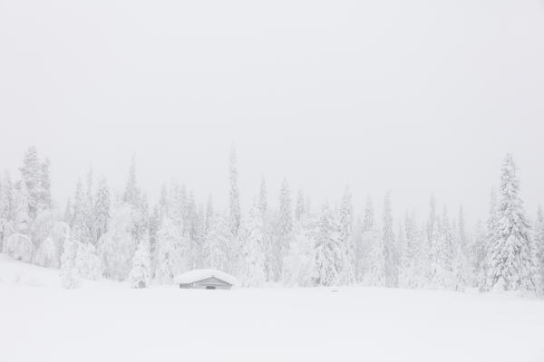
[[184, 289], [230, 289], [238, 281], [232, 275], [214, 269], [195, 269], [174, 278], [176, 284]]

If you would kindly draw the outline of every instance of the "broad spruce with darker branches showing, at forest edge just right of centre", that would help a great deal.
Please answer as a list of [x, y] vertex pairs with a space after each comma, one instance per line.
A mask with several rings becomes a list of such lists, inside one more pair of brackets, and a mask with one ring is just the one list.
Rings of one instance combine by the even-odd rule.
[[339, 238], [339, 225], [328, 204], [322, 208], [316, 234], [316, 285], [331, 286], [338, 281], [344, 251]]

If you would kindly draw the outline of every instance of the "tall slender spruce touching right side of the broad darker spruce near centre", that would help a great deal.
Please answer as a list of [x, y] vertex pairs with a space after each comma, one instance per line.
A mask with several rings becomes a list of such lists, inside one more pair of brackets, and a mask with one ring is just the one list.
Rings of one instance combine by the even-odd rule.
[[339, 283], [355, 283], [355, 240], [353, 235], [353, 205], [349, 187], [345, 188], [339, 210], [340, 243], [344, 251], [344, 261], [340, 271]]

